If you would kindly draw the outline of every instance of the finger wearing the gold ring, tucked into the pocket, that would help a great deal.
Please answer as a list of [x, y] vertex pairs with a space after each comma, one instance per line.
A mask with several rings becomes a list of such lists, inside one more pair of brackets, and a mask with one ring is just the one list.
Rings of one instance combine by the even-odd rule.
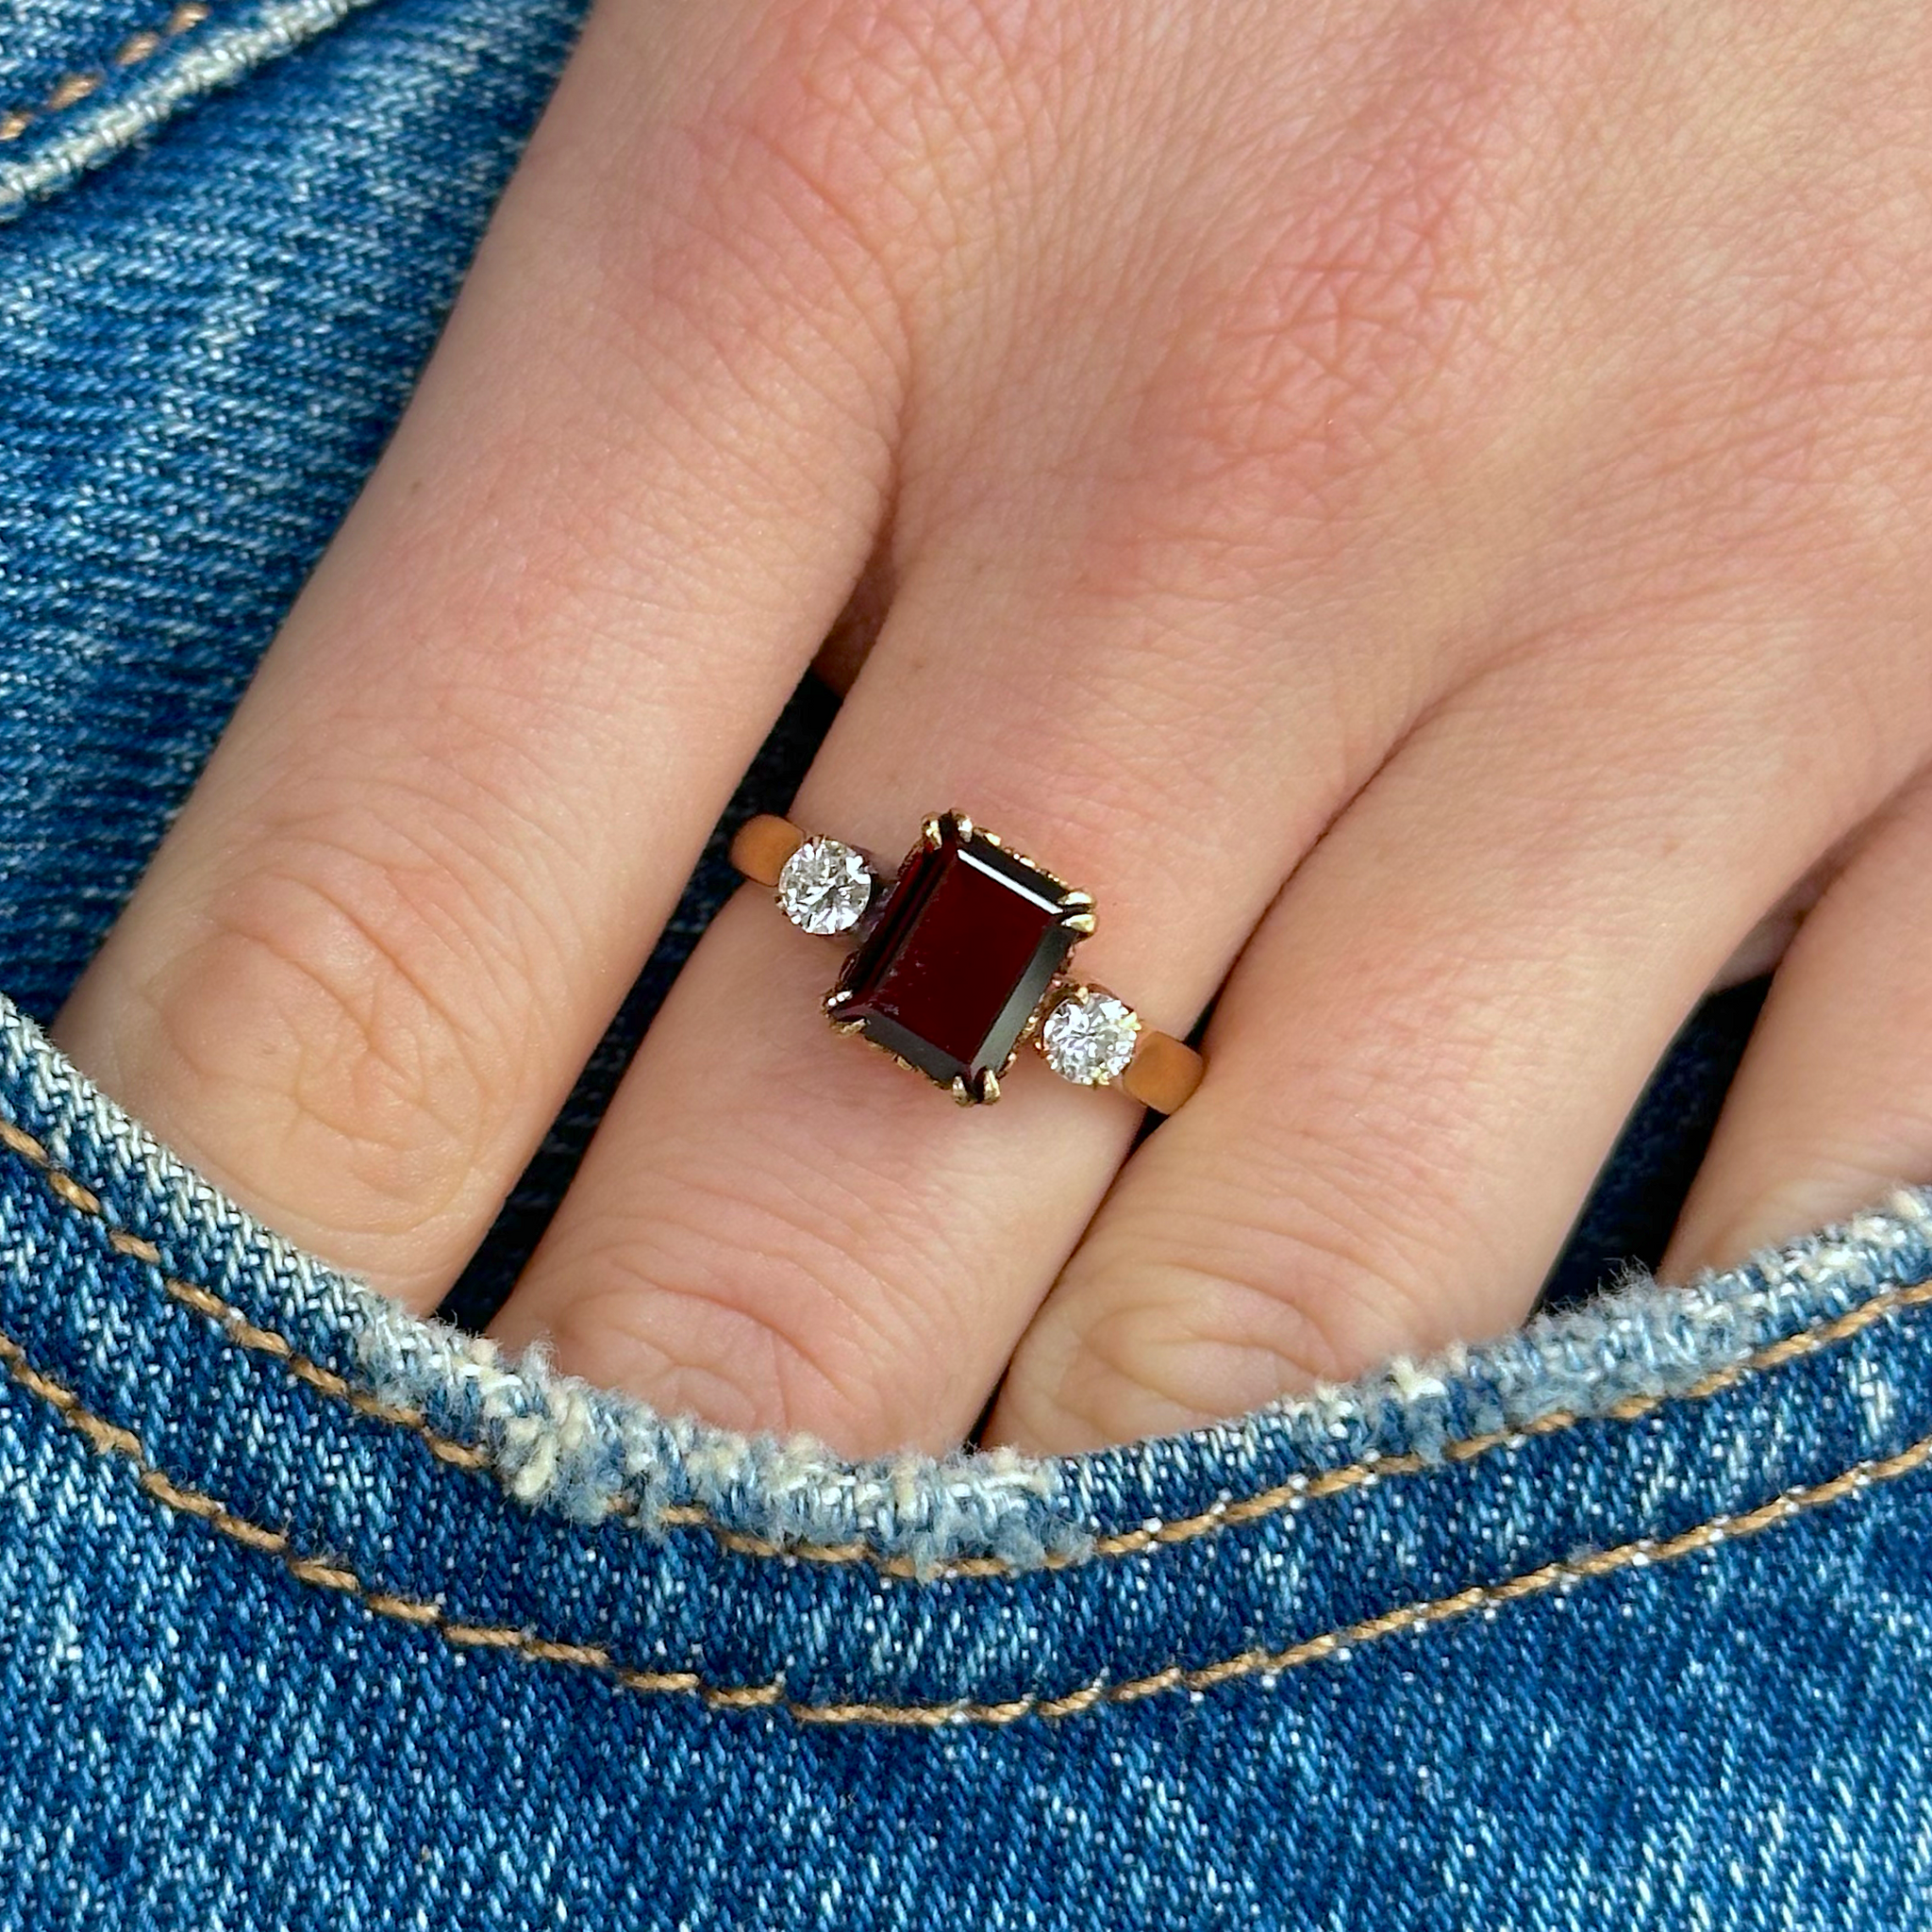
[[[910, 572], [794, 817], [893, 864], [925, 813], [970, 808], [1095, 895], [1082, 970], [1184, 1032], [1337, 775], [1312, 719], [1250, 715], [1300, 796], [1277, 781], [1236, 810], [1246, 740], [1204, 717], [1238, 705], [1231, 653], [1134, 647], [1169, 622], [1151, 599], [1103, 611], [1049, 593], [1043, 574], [981, 583], [966, 605], [951, 572]], [[1001, 638], [1051, 645], [1022, 667], [981, 641]], [[1109, 680], [1122, 643], [1136, 674]], [[1236, 752], [1233, 769], [1188, 757], [1202, 736]], [[543, 1335], [566, 1368], [665, 1408], [810, 1428], [848, 1453], [960, 1439], [1138, 1109], [1030, 1053], [999, 1105], [954, 1107], [831, 1034], [838, 956], [767, 891], [724, 908], [498, 1318], [502, 1341]]]

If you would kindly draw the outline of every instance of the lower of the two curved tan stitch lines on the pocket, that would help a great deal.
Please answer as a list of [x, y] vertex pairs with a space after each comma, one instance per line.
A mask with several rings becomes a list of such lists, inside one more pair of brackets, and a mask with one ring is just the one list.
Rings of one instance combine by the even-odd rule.
[[504, 1650], [531, 1663], [554, 1663], [568, 1669], [593, 1671], [624, 1690], [636, 1690], [645, 1696], [696, 1698], [709, 1710], [779, 1710], [800, 1723], [825, 1725], [939, 1729], [941, 1725], [954, 1723], [1007, 1725], [1018, 1723], [1022, 1718], [1053, 1721], [1059, 1718], [1076, 1718], [1082, 1712], [1099, 1710], [1109, 1704], [1138, 1704], [1142, 1698], [1161, 1696], [1169, 1690], [1198, 1694], [1242, 1677], [1260, 1677], [1264, 1685], [1271, 1687], [1277, 1677], [1289, 1671], [1323, 1658], [1347, 1658], [1358, 1646], [1379, 1642], [1399, 1631], [1449, 1623], [1476, 1609], [1515, 1604], [1520, 1598], [1542, 1596], [1592, 1577], [1609, 1577], [1617, 1571], [1671, 1563], [1677, 1557], [1712, 1549], [1721, 1542], [1756, 1536], [1760, 1530], [1777, 1528], [1795, 1517], [1812, 1509], [1824, 1509], [1828, 1503], [1837, 1503], [1861, 1490], [1897, 1482], [1901, 1476], [1909, 1476], [1913, 1470], [1924, 1466], [1926, 1461], [1932, 1461], [1932, 1435], [1920, 1435], [1918, 1441], [1909, 1443], [1895, 1455], [1853, 1463], [1851, 1468], [1841, 1470], [1837, 1476], [1824, 1482], [1799, 1484], [1743, 1515], [1708, 1517], [1704, 1522], [1689, 1530], [1679, 1530], [1675, 1536], [1640, 1536], [1634, 1542], [1615, 1544], [1609, 1549], [1592, 1549], [1578, 1557], [1544, 1563], [1503, 1582], [1472, 1584], [1451, 1596], [1401, 1604], [1378, 1617], [1364, 1617], [1358, 1623], [1323, 1631], [1320, 1636], [1302, 1638], [1285, 1650], [1242, 1650], [1213, 1663], [1171, 1663], [1167, 1669], [1150, 1671], [1144, 1677], [1090, 1683], [1061, 1696], [1030, 1692], [997, 1704], [974, 1698], [954, 1698], [943, 1704], [808, 1704], [786, 1696], [782, 1677], [750, 1685], [715, 1685], [701, 1679], [696, 1671], [639, 1671], [620, 1663], [603, 1644], [556, 1642], [554, 1638], [539, 1636], [533, 1631], [512, 1625], [458, 1623], [439, 1604], [375, 1590], [355, 1571], [340, 1563], [301, 1555], [282, 1530], [269, 1530], [259, 1522], [249, 1522], [213, 1495], [174, 1482], [149, 1461], [141, 1437], [133, 1430], [126, 1430], [81, 1406], [79, 1397], [71, 1389], [33, 1368], [25, 1350], [10, 1335], [0, 1335], [0, 1364], [6, 1366], [6, 1372], [19, 1387], [52, 1406], [60, 1420], [81, 1435], [97, 1455], [118, 1457], [129, 1463], [139, 1486], [162, 1507], [195, 1517], [218, 1536], [226, 1536], [249, 1549], [278, 1557], [296, 1582], [350, 1596], [375, 1617], [388, 1617], [394, 1623], [410, 1623], [417, 1629], [433, 1631], [452, 1650]]

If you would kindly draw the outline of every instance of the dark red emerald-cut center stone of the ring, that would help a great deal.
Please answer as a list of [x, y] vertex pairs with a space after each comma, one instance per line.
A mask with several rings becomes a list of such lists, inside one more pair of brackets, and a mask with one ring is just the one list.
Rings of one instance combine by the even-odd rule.
[[844, 964], [833, 1018], [910, 1061], [939, 1086], [999, 1072], [1080, 937], [1066, 887], [952, 813], [939, 842], [900, 867], [877, 923]]

